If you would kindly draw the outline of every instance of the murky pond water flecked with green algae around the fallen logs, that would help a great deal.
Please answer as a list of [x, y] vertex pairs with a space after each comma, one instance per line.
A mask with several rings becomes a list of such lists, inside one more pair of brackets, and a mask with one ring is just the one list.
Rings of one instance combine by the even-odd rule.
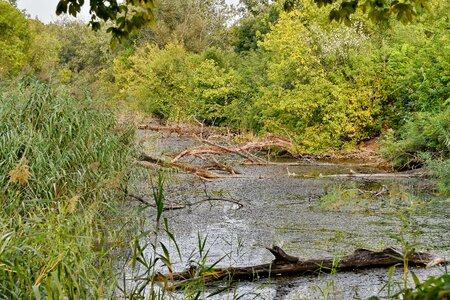
[[[143, 148], [152, 155], [172, 155], [195, 144], [176, 135], [141, 132]], [[228, 157], [226, 159], [233, 159]], [[198, 259], [198, 240], [206, 239], [207, 263], [248, 266], [270, 262], [265, 250], [281, 246], [302, 259], [349, 254], [356, 248], [402, 248], [450, 256], [449, 199], [436, 197], [424, 178], [328, 178], [326, 175], [380, 173], [364, 162], [333, 162], [298, 166], [242, 166], [236, 178], [204, 182], [185, 174], [169, 176], [166, 201], [192, 204], [165, 212], [181, 250], [176, 270]], [[419, 278], [439, 275], [440, 268], [417, 269]], [[402, 270], [395, 273], [401, 281]], [[386, 295], [387, 269], [281, 277], [243, 282], [214, 299], [366, 299]], [[207, 289], [205, 296], [220, 288]], [[380, 292], [380, 290], [382, 290]]]

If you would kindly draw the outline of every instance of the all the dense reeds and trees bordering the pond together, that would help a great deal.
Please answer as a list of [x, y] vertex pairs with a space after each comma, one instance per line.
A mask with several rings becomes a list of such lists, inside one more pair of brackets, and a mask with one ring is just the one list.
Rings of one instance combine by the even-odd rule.
[[133, 149], [111, 106], [274, 133], [308, 154], [381, 136], [396, 168], [427, 166], [450, 193], [450, 3], [429, 2], [417, 23], [357, 11], [346, 26], [310, 2], [161, 0], [154, 27], [111, 49], [104, 31], [0, 0], [0, 295], [111, 293]]

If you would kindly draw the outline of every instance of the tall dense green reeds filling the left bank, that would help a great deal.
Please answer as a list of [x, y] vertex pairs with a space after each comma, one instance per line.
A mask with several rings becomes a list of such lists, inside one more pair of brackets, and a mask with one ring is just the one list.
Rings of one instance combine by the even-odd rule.
[[[126, 242], [114, 207], [133, 132], [90, 99], [32, 79], [0, 101], [0, 294], [99, 298], [115, 284]], [[122, 213], [121, 213], [122, 214]]]

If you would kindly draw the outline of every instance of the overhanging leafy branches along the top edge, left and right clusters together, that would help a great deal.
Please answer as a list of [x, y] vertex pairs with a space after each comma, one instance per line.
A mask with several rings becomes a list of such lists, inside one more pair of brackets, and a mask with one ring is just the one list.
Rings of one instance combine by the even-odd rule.
[[[74, 17], [81, 11], [85, 0], [60, 0], [56, 7], [56, 14], [68, 13]], [[291, 11], [301, 7], [303, 1], [309, 0], [280, 0], [284, 10]], [[424, 9], [428, 9], [428, 0], [313, 0], [321, 7], [335, 5], [329, 14], [329, 19], [343, 21], [347, 25], [351, 23], [350, 16], [358, 9], [374, 21], [387, 20], [395, 16], [403, 23], [409, 23], [416, 19]], [[254, 7], [252, 0], [243, 0], [247, 7]], [[264, 1], [262, 1], [264, 3]], [[340, 4], [338, 5], [338, 3]], [[256, 3], [259, 3], [256, 1]], [[93, 30], [99, 30], [101, 21], [112, 24], [107, 32], [112, 34], [112, 43], [128, 38], [132, 32], [137, 32], [142, 27], [155, 22], [155, 0], [91, 0], [89, 22]]]

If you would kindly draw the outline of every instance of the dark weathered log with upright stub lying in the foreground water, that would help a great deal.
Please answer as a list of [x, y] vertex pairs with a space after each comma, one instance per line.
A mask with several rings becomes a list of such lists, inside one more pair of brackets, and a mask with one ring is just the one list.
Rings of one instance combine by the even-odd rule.
[[357, 249], [353, 254], [341, 257], [340, 259], [324, 258], [310, 260], [301, 260], [297, 257], [290, 256], [277, 246], [267, 249], [275, 256], [275, 260], [271, 263], [250, 267], [212, 268], [206, 270], [190, 267], [184, 272], [170, 274], [171, 285], [168, 284], [169, 278], [161, 274], [155, 276], [153, 280], [166, 282], [166, 288], [168, 289], [178, 289], [193, 280], [201, 280], [203, 282], [222, 280], [225, 278], [229, 280], [253, 280], [260, 277], [329, 272], [332, 269], [354, 270], [389, 267], [396, 264], [403, 264], [406, 260], [409, 266], [434, 266], [444, 263], [443, 259], [436, 259], [429, 253], [412, 252], [404, 255], [402, 252], [393, 248], [386, 248], [379, 252]]

